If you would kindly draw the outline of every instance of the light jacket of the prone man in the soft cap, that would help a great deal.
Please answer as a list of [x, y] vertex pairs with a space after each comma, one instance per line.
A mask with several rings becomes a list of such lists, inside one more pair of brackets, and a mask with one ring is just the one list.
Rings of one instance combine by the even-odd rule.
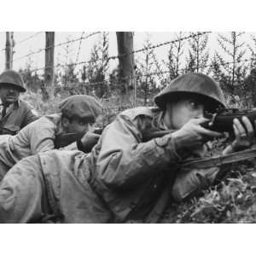
[[[55, 148], [56, 134], [61, 132], [61, 113], [46, 115], [26, 125], [15, 136], [0, 136], [0, 178], [19, 160]], [[76, 143], [67, 146], [77, 149]]]

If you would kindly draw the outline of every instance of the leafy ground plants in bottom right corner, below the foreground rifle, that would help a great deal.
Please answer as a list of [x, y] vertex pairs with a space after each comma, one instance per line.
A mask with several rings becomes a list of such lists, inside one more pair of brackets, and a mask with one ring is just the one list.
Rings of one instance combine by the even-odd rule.
[[163, 223], [255, 223], [256, 170], [254, 160], [226, 166], [227, 177], [199, 198], [172, 203]]

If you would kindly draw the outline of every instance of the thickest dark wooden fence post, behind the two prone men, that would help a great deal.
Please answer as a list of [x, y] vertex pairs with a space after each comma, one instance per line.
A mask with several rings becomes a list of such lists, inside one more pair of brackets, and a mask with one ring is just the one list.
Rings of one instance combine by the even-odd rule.
[[134, 76], [134, 55], [133, 32], [116, 32], [119, 52], [119, 67], [121, 76], [121, 105], [135, 105], [135, 76]]

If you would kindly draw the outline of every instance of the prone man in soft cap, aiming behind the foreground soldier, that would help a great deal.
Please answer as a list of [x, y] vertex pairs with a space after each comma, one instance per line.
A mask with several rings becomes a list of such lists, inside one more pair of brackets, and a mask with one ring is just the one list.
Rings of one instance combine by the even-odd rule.
[[[46, 115], [26, 125], [15, 136], [0, 137], [0, 180], [19, 160], [32, 154], [55, 148], [55, 137], [65, 133], [85, 133], [93, 130], [101, 106], [91, 96], [69, 96], [59, 106], [61, 113]], [[98, 135], [89, 132], [66, 148], [90, 151]]]

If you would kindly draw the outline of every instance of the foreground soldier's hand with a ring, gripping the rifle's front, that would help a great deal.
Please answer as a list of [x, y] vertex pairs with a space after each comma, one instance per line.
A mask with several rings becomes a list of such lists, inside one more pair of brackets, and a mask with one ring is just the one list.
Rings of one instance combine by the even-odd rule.
[[[256, 126], [256, 123], [254, 125]], [[236, 139], [231, 144], [233, 152], [250, 148], [255, 143], [253, 124], [246, 116], [243, 116], [241, 121], [234, 119], [233, 129], [236, 136]]]

